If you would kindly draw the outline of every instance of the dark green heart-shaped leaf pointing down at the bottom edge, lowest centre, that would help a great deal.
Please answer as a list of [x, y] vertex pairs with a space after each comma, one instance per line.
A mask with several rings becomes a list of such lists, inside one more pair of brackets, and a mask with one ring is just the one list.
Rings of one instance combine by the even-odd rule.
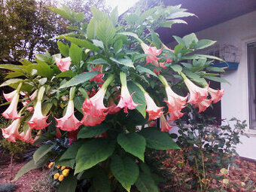
[[112, 156], [110, 169], [117, 181], [127, 191], [130, 191], [131, 186], [139, 176], [139, 167], [130, 157]]

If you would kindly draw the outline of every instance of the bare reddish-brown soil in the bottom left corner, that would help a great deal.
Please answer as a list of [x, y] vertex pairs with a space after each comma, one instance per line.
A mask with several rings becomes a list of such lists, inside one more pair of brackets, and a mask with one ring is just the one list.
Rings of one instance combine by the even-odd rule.
[[[20, 170], [22, 166], [24, 166], [26, 163], [15, 163], [13, 164], [13, 178], [17, 174], [17, 172]], [[9, 164], [1, 165], [0, 166], [0, 184], [7, 184], [7, 183], [13, 183], [17, 185], [17, 190], [15, 192], [32, 192], [31, 190], [31, 184], [35, 181], [38, 181], [40, 179], [44, 172], [42, 172], [42, 169], [35, 169], [32, 170], [25, 175], [23, 175], [21, 178], [19, 178], [17, 181], [11, 182], [11, 167]]]

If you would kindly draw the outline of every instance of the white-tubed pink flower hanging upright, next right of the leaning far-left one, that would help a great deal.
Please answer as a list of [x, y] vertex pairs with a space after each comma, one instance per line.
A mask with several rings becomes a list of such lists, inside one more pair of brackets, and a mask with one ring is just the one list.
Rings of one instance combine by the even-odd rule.
[[32, 129], [43, 130], [45, 127], [47, 127], [50, 124], [46, 122], [48, 116], [44, 116], [41, 113], [41, 101], [39, 100], [35, 104], [34, 114], [32, 115], [31, 119], [27, 123], [29, 123], [29, 126]]

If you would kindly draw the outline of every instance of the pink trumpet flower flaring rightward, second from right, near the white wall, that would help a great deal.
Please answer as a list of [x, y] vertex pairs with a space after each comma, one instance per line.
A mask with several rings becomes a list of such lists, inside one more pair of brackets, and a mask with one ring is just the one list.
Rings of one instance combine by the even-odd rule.
[[208, 96], [209, 87], [198, 87], [188, 78], [184, 78], [184, 83], [186, 84], [187, 89], [189, 90], [190, 93], [190, 99], [188, 100], [188, 102], [197, 104], [199, 102], [202, 102]]

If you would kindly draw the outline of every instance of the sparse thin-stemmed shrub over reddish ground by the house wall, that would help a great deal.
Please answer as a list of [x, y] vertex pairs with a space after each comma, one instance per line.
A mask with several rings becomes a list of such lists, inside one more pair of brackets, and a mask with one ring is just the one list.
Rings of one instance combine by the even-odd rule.
[[212, 183], [222, 181], [224, 175], [227, 176], [227, 172], [219, 174], [220, 170], [236, 166], [236, 145], [240, 142], [240, 135], [244, 134], [246, 124], [232, 118], [224, 120], [225, 125], [218, 126], [212, 125], [215, 123], [213, 118], [196, 116], [187, 117], [183, 122], [177, 120], [177, 144], [182, 149], [170, 151], [163, 165], [172, 170], [169, 172], [175, 175], [171, 178], [172, 184], [177, 185], [178, 181], [177, 187], [212, 191]]

